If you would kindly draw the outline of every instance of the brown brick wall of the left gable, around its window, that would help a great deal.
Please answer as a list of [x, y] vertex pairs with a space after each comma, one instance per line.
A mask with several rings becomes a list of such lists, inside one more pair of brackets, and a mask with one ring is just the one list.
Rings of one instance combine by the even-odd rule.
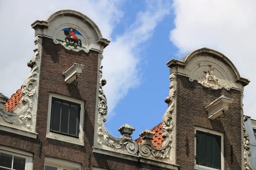
[[[78, 78], [78, 85], [66, 84], [62, 73], [74, 63], [85, 65]], [[44, 157], [55, 157], [82, 164], [88, 169], [89, 153], [93, 146], [95, 104], [97, 93], [98, 52], [69, 51], [52, 39], [43, 38], [39, 78], [37, 132], [42, 142], [41, 157], [35, 158], [34, 170], [41, 169]], [[84, 146], [46, 138], [49, 93], [69, 96], [85, 102], [84, 108]], [[39, 167], [37, 167], [39, 165]]]

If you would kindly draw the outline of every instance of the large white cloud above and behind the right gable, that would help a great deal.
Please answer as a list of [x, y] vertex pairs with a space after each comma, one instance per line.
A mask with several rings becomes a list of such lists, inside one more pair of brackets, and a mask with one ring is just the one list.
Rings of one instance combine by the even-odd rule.
[[208, 47], [226, 55], [240, 75], [251, 80], [245, 87], [244, 113], [256, 119], [256, 1], [174, 0], [173, 6], [170, 39], [179, 52]]

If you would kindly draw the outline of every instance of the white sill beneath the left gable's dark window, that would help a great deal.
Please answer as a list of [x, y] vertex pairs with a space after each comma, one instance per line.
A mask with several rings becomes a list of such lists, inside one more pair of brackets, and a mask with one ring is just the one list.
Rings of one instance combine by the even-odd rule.
[[60, 141], [63, 141], [63, 142], [73, 143], [73, 144], [76, 144], [76, 145], [84, 146], [84, 142], [80, 138], [60, 135], [60, 134], [56, 134], [56, 133], [53, 133], [53, 132], [47, 132], [46, 138], [60, 140]]

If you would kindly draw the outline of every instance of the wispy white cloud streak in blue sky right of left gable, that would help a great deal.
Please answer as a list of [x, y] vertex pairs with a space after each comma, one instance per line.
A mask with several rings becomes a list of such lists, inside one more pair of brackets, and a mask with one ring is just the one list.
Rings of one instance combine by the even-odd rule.
[[170, 13], [170, 9], [171, 4], [167, 1], [147, 1], [146, 10], [138, 12], [135, 22], [105, 49], [107, 59], [103, 60], [102, 65], [105, 67], [103, 77], [107, 79], [104, 91], [109, 106], [108, 116], [115, 115], [113, 110], [118, 101], [126, 96], [130, 88], [139, 85], [138, 63], [142, 58], [139, 50], [152, 36], [158, 22]]

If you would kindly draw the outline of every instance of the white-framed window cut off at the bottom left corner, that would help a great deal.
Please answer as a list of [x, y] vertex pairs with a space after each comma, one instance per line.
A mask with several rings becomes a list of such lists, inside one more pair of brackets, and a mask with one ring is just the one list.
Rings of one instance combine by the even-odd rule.
[[0, 146], [0, 170], [32, 170], [32, 159], [32, 153]]

